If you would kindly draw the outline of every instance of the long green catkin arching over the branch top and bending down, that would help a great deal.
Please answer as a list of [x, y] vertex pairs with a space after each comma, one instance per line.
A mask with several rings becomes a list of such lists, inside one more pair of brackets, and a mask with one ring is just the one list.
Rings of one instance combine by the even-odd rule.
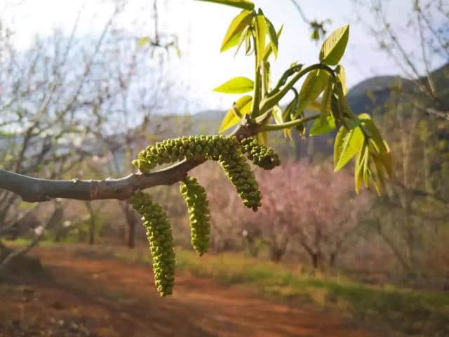
[[235, 136], [190, 136], [163, 140], [150, 145], [133, 160], [142, 173], [154, 167], [183, 159], [214, 160], [236, 187], [243, 204], [253, 211], [261, 205], [259, 185], [246, 162]]

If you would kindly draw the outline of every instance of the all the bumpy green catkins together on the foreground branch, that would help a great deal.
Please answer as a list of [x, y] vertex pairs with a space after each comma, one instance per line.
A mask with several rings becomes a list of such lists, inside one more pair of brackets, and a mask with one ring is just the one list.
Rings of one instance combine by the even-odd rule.
[[[142, 173], [149, 173], [157, 165], [184, 159], [217, 161], [236, 187], [243, 204], [257, 211], [261, 206], [262, 197], [254, 173], [243, 153], [263, 169], [273, 169], [279, 165], [279, 157], [272, 148], [257, 145], [253, 138], [244, 139], [239, 143], [235, 136], [191, 136], [163, 140], [142, 150], [133, 165]], [[187, 177], [180, 183], [180, 192], [189, 212], [192, 246], [202, 255], [208, 249], [210, 235], [210, 211], [206, 190], [195, 178]], [[175, 253], [166, 213], [159, 204], [152, 201], [149, 194], [140, 191], [133, 194], [130, 202], [143, 216], [142, 220], [147, 227], [156, 288], [161, 296], [168, 295], [173, 289]]]

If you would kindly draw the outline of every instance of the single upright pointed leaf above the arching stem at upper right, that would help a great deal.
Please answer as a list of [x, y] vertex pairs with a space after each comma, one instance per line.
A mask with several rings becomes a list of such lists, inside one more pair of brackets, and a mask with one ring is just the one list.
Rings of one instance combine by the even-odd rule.
[[338, 28], [324, 40], [320, 51], [320, 62], [325, 65], [337, 65], [348, 44], [349, 25]]

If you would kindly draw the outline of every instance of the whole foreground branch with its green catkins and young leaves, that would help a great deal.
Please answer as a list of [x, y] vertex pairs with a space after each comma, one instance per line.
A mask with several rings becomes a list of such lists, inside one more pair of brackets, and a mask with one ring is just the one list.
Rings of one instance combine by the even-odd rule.
[[[28, 202], [53, 198], [130, 199], [147, 227], [154, 280], [161, 296], [172, 293], [174, 282], [175, 253], [170, 220], [163, 208], [142, 190], [180, 182], [180, 192], [188, 207], [192, 244], [201, 255], [208, 249], [210, 235], [208, 199], [204, 187], [196, 178], [188, 176], [188, 172], [207, 160], [217, 161], [243, 204], [257, 211], [262, 195], [247, 159], [262, 169], [273, 169], [280, 164], [274, 151], [267, 147], [269, 132], [305, 134], [311, 122], [314, 135], [337, 129], [335, 171], [340, 171], [356, 157], [357, 192], [362, 184], [366, 187], [373, 184], [380, 192], [385, 174], [391, 174], [389, 147], [374, 122], [368, 114], [354, 116], [347, 104], [344, 68], [339, 61], [347, 46], [349, 26], [340, 27], [323, 42], [318, 63], [309, 66], [295, 63], [272, 86], [270, 64], [271, 58], [278, 54], [281, 28], [276, 31], [262, 10], [256, 11], [248, 0], [208, 1], [241, 9], [227, 29], [221, 51], [244, 45], [244, 53], [254, 58], [253, 79], [234, 77], [215, 88], [222, 93], [251, 92], [237, 100], [222, 121], [220, 132], [236, 126], [232, 133], [166, 139], [149, 145], [133, 161], [138, 172], [119, 179], [45, 180], [4, 169], [0, 171], [0, 187]], [[297, 88], [301, 79], [304, 81]], [[290, 91], [295, 94], [294, 98], [283, 110], [279, 102]], [[316, 100], [321, 93], [318, 103]], [[313, 105], [319, 105], [319, 113], [306, 114], [307, 107]], [[163, 164], [171, 166], [156, 169]]]

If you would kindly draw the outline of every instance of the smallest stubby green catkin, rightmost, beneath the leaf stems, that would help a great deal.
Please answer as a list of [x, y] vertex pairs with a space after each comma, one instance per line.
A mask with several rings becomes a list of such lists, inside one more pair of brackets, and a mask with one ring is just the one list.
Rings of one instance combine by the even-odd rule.
[[272, 147], [259, 145], [253, 138], [245, 138], [241, 141], [241, 152], [245, 153], [255, 165], [265, 170], [274, 169], [281, 164]]

